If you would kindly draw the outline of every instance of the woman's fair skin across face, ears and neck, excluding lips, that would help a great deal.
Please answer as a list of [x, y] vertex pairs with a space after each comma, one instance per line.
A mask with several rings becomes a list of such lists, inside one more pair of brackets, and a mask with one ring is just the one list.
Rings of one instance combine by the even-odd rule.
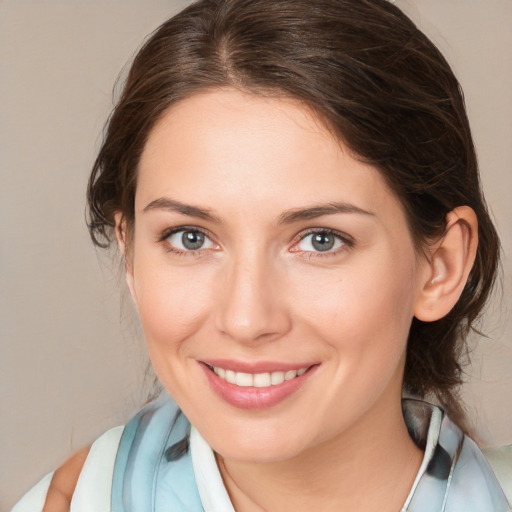
[[[472, 210], [419, 250], [378, 170], [304, 106], [219, 89], [156, 124], [134, 231], [116, 222], [155, 370], [216, 452], [236, 510], [399, 510], [422, 458], [401, 413], [408, 330], [457, 301]], [[184, 230], [204, 244], [184, 247]], [[244, 409], [210, 387], [201, 361], [213, 358], [316, 367], [277, 405]]]

